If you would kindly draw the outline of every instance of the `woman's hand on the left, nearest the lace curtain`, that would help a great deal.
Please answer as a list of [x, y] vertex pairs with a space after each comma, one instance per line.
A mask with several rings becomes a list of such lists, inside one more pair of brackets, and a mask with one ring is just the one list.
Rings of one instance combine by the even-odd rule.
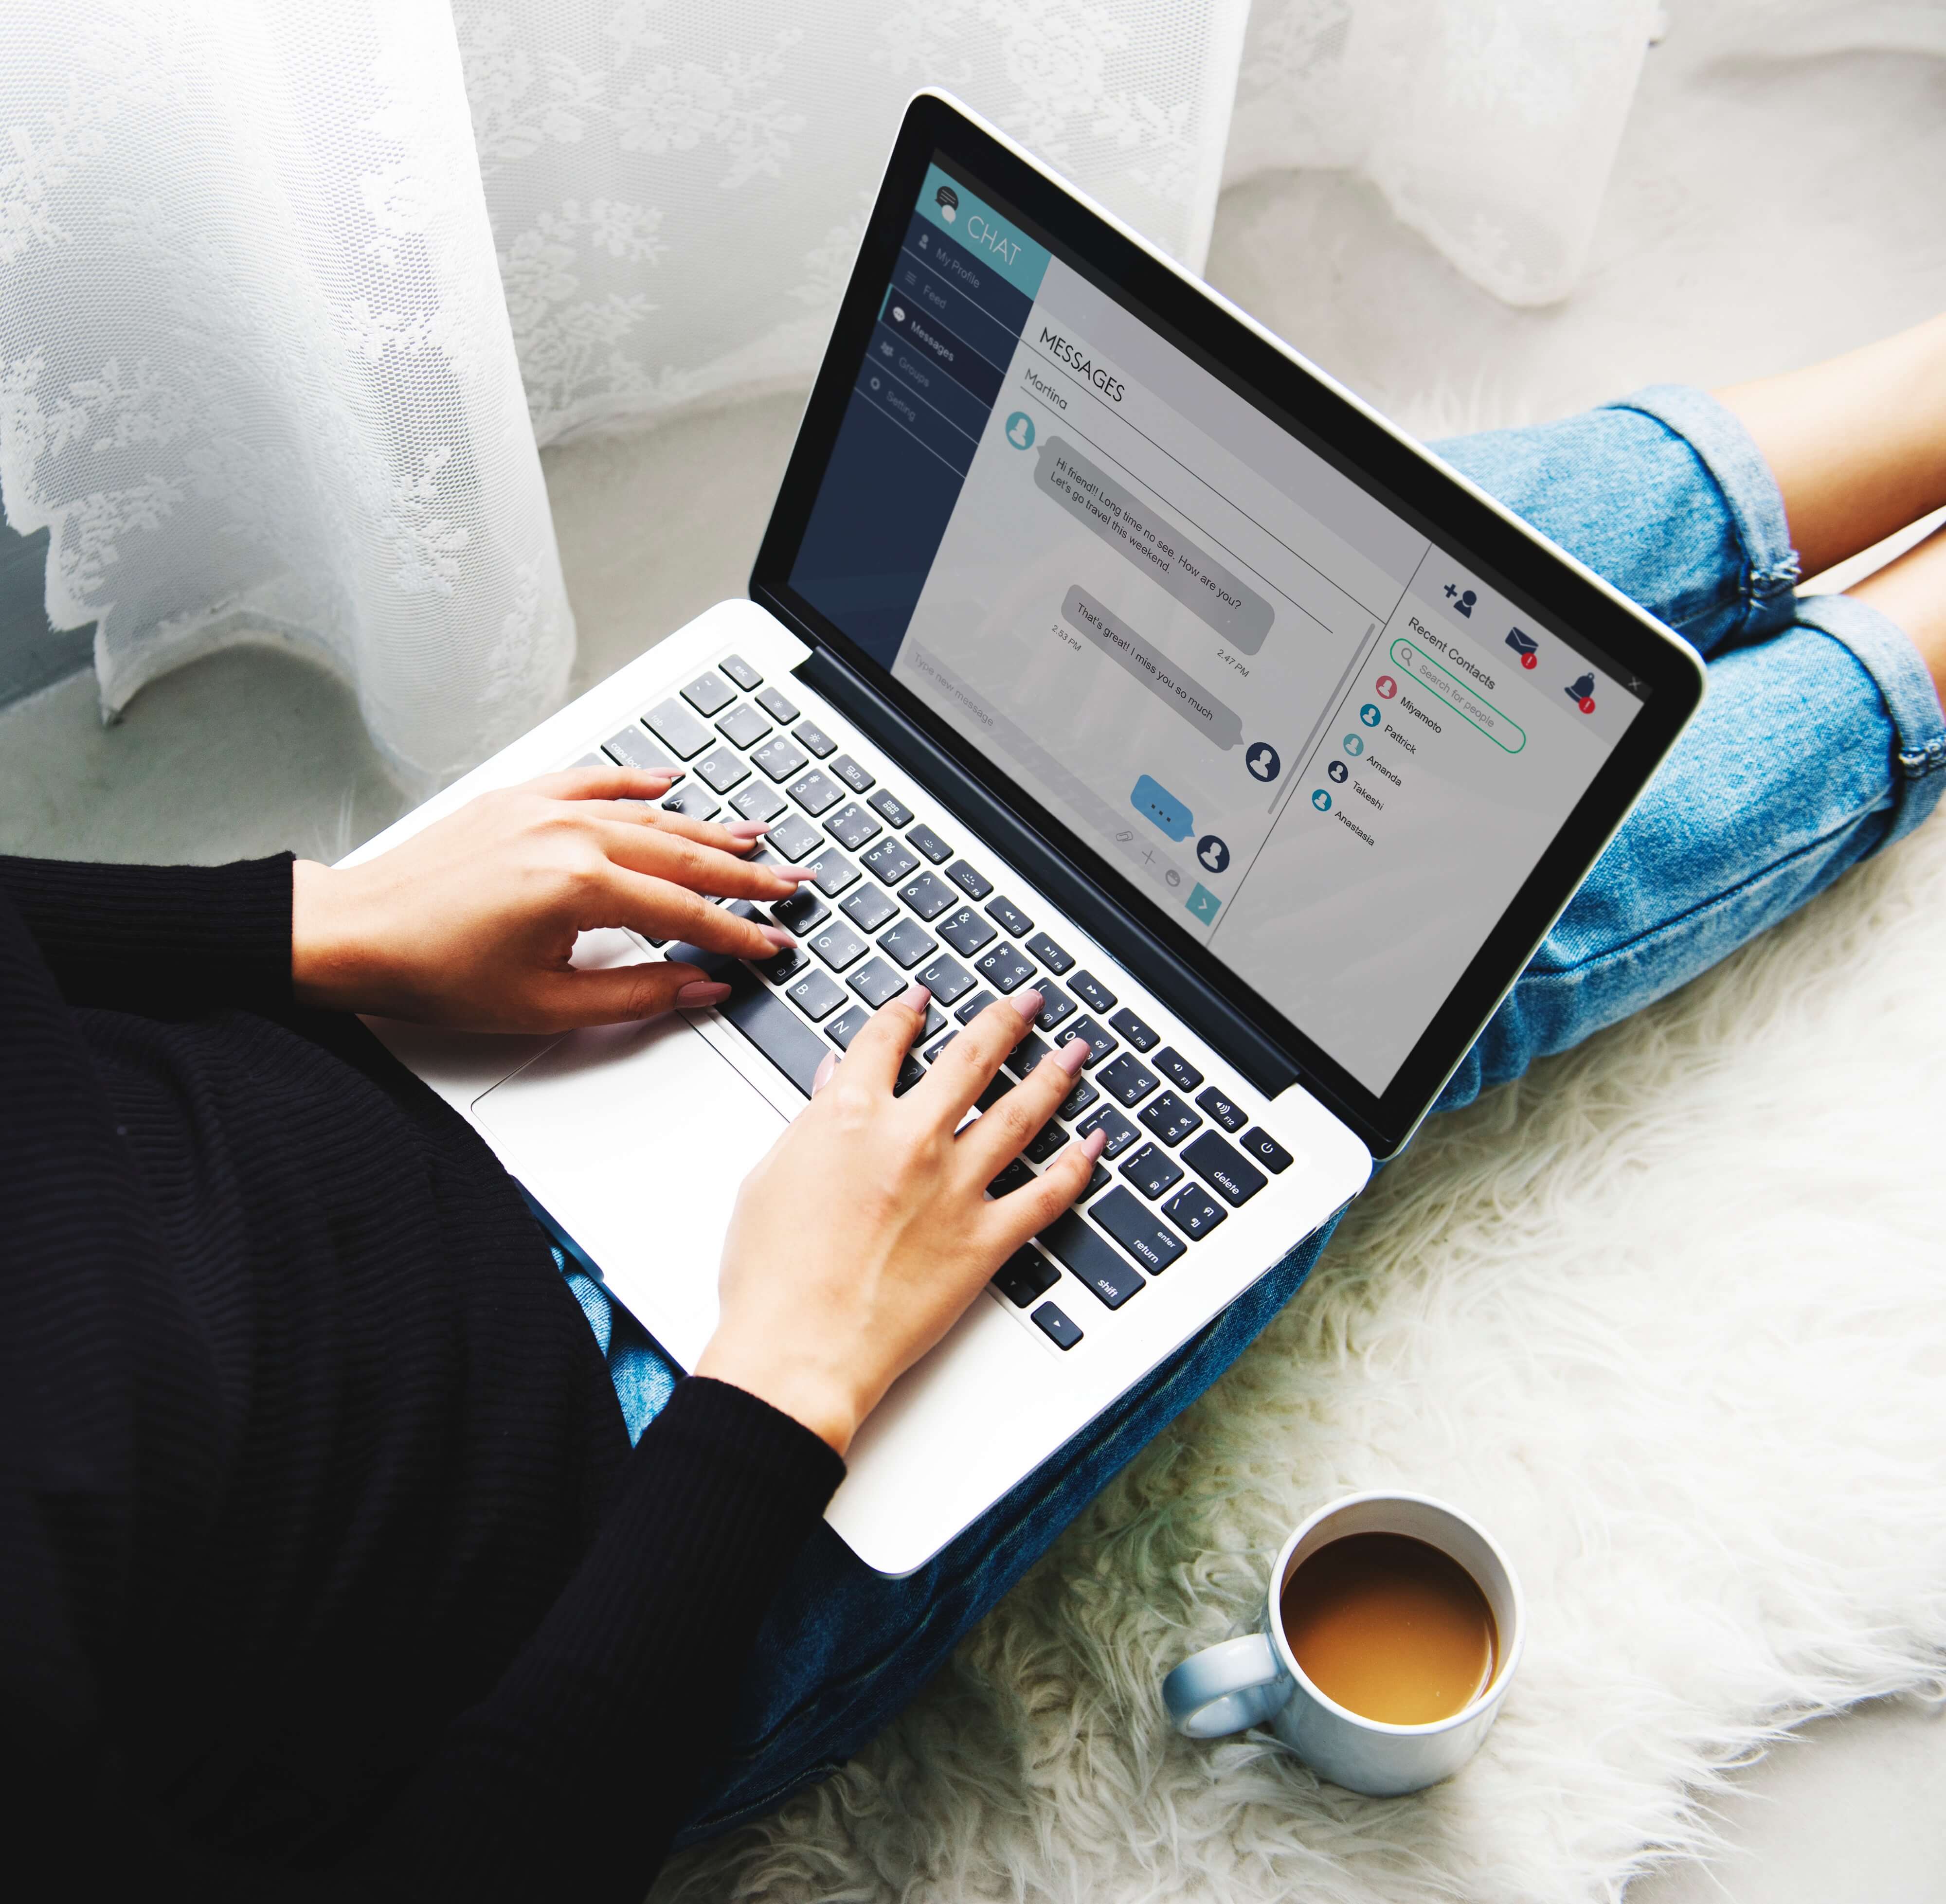
[[704, 825], [640, 802], [673, 773], [576, 767], [481, 794], [360, 866], [298, 860], [290, 975], [298, 1001], [477, 1032], [560, 1032], [714, 1005], [697, 966], [576, 971], [578, 933], [625, 925], [710, 952], [769, 958], [782, 927], [701, 894], [784, 899], [811, 874], [751, 866], [765, 827]]

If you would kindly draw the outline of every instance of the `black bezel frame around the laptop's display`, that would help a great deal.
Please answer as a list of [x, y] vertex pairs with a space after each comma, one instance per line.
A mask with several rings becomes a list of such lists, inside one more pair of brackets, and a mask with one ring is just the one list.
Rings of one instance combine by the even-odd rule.
[[[1294, 434], [1428, 539], [1454, 549], [1489, 588], [1611, 674], [1646, 685], [1644, 707], [1609, 753], [1553, 843], [1434, 1010], [1384, 1092], [1374, 1092], [1315, 1045], [1279, 1007], [1175, 925], [1168, 909], [1051, 812], [1006, 769], [940, 720], [893, 674], [790, 586], [790, 570], [864, 362], [872, 325], [926, 167], [938, 164], [969, 191], [1183, 350], [1243, 401]], [[1195, 278], [1080, 202], [1068, 187], [991, 134], [940, 93], [907, 107], [866, 226], [831, 343], [804, 411], [749, 594], [800, 637], [825, 646], [915, 722], [991, 798], [1014, 810], [1088, 878], [1113, 894], [1142, 931], [1290, 1059], [1292, 1079], [1329, 1102], [1376, 1156], [1413, 1131], [1454, 1067], [1493, 1016], [1561, 907], [1572, 897], [1662, 755], [1703, 697], [1695, 650], [1633, 604], [1582, 572], [1553, 543], [1479, 496], [1461, 477], [1351, 401], [1308, 364], [1220, 304]]]

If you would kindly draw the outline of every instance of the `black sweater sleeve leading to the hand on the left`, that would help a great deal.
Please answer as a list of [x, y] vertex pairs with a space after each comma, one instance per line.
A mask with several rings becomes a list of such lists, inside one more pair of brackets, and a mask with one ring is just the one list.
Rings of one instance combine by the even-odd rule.
[[290, 1010], [294, 855], [230, 866], [0, 857], [0, 892], [68, 1005], [181, 1018]]

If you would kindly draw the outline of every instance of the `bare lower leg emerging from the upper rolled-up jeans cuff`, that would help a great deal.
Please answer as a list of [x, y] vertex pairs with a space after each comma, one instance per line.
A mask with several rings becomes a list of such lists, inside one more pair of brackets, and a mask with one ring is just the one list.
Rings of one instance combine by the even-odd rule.
[[[1946, 504], [1946, 317], [1823, 364], [1734, 384], [1716, 399], [1736, 411], [1771, 465], [1806, 574]], [[1946, 565], [1934, 553], [1932, 602], [1942, 580]], [[1911, 621], [1895, 619], [1925, 646]], [[1938, 677], [1936, 664], [1932, 672]]]

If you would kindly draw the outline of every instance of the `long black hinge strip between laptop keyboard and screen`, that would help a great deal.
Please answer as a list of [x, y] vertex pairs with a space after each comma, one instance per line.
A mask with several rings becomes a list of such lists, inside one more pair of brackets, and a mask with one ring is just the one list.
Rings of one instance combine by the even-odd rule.
[[[775, 602], [765, 602], [778, 613]], [[788, 619], [778, 615], [778, 619]], [[1061, 897], [1068, 917], [1090, 931], [1156, 997], [1166, 999], [1197, 1034], [1218, 1049], [1267, 1098], [1298, 1082], [1290, 1055], [1265, 1038], [1228, 999], [1177, 958], [1131, 911], [1016, 818], [967, 773], [909, 714], [897, 709], [862, 674], [825, 646], [813, 646], [796, 670], [856, 720], [915, 781], [950, 806], [975, 833], [1004, 853], [1029, 880]], [[1333, 1106], [1335, 1110], [1335, 1106]]]

